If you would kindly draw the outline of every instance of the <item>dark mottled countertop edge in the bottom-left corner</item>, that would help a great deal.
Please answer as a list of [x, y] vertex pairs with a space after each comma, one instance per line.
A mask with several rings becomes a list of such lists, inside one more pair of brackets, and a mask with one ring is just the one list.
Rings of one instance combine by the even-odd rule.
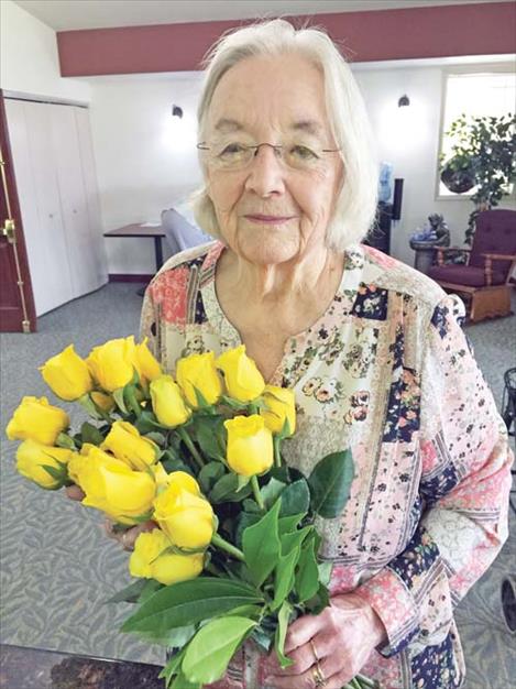
[[[163, 654], [165, 655], [165, 654]], [[0, 645], [1, 689], [164, 689], [161, 667]]]

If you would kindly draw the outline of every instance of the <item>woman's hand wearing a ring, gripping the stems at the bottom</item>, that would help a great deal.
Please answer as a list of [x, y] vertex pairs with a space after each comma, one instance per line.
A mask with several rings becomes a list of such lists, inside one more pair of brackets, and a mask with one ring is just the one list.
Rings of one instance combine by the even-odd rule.
[[[341, 689], [387, 638], [374, 610], [353, 593], [337, 595], [319, 615], [304, 615], [288, 627], [285, 654], [294, 665], [282, 670], [273, 652], [265, 685], [274, 689]], [[320, 679], [317, 680], [317, 661]]]

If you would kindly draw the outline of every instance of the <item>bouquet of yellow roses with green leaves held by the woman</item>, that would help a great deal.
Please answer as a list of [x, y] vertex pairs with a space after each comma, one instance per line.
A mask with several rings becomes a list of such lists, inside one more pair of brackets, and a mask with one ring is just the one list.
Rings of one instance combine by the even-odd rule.
[[[248, 639], [275, 649], [282, 667], [288, 624], [329, 602], [316, 515], [338, 516], [353, 479], [349, 450], [321, 459], [309, 477], [283, 461], [295, 431], [290, 390], [265, 385], [243, 346], [216, 359], [191, 354], [176, 380], [134, 338], [70, 344], [41, 368], [62, 400], [24, 397], [7, 435], [23, 442], [20, 473], [47, 490], [77, 484], [83, 504], [140, 534], [129, 561], [138, 581], [111, 601], [136, 603], [123, 632], [173, 649], [166, 687], [200, 689], [220, 679]], [[373, 687], [358, 676], [349, 687]]]

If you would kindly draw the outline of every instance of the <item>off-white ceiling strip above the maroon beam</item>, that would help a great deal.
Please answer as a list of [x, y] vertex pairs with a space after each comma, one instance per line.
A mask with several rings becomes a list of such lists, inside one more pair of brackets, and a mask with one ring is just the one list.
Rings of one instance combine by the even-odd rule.
[[497, 1], [499, 0], [14, 0], [18, 6], [56, 31]]

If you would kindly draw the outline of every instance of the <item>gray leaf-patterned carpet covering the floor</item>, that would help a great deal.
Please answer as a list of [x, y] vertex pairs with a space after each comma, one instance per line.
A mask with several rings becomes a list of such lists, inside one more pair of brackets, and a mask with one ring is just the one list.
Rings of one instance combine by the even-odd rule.
[[[21, 479], [3, 429], [23, 394], [46, 394], [36, 367], [70, 342], [85, 356], [107, 339], [136, 333], [136, 285], [116, 283], [43, 316], [36, 335], [1, 336], [1, 641], [94, 656], [162, 663], [163, 650], [117, 632], [127, 614], [105, 603], [129, 582], [128, 555], [108, 540], [98, 513]], [[466, 328], [501, 405], [503, 372], [516, 365], [516, 317]], [[81, 414], [73, 405], [72, 422]], [[502, 554], [458, 610], [468, 689], [509, 689], [516, 638], [506, 631], [499, 584], [516, 571], [516, 523]], [[513, 680], [510, 680], [510, 677]]]

